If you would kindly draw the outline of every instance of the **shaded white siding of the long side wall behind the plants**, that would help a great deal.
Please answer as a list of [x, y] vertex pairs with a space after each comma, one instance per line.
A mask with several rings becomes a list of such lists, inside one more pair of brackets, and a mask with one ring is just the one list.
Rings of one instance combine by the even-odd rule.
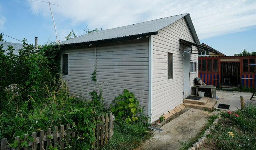
[[[69, 76], [62, 76], [70, 94], [89, 100], [88, 93], [96, 88], [98, 92], [103, 85], [103, 97], [109, 106], [127, 88], [145, 106], [144, 114], [148, 115], [148, 39], [92, 46], [62, 51], [70, 58]], [[96, 85], [90, 75], [95, 69]]]

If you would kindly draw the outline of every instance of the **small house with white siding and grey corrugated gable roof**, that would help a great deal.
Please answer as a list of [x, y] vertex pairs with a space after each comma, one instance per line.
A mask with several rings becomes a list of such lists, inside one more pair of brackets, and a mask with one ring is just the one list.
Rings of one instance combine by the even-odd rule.
[[[103, 96], [110, 105], [127, 88], [151, 122], [193, 94], [197, 47], [206, 48], [189, 14], [106, 29], [60, 44], [62, 79], [70, 94], [90, 99], [88, 93], [99, 91], [97, 85], [104, 82]], [[94, 70], [96, 85], [90, 75]]]

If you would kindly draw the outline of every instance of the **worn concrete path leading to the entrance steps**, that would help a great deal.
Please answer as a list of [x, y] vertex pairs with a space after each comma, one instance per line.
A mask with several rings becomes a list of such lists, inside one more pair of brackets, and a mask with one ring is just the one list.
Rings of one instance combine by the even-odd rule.
[[213, 114], [200, 109], [185, 108], [169, 117], [169, 120], [172, 117], [174, 119], [160, 127], [163, 132], [155, 131], [153, 137], [136, 150], [178, 150], [181, 147], [179, 141], [196, 137], [208, 123], [208, 116]]

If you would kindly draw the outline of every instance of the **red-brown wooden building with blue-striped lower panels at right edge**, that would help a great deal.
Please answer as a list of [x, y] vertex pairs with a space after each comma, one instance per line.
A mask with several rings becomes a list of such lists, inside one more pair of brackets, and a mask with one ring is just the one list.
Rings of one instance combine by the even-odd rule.
[[[209, 47], [204, 43], [202, 45]], [[210, 53], [198, 57], [198, 76], [206, 84], [223, 88], [255, 88], [256, 56], [226, 56], [215, 52], [219, 55]]]

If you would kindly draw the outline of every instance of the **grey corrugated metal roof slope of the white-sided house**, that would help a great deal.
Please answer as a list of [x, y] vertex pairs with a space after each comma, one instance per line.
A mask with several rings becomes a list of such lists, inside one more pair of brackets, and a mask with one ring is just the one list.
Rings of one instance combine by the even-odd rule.
[[146, 21], [142, 23], [136, 23], [132, 25], [126, 25], [123, 27], [116, 27], [113, 29], [97, 31], [97, 32], [89, 33], [79, 37], [75, 37], [72, 39], [68, 39], [66, 41], [62, 41], [60, 42], [60, 44], [66, 45], [66, 44], [73, 44], [73, 43], [84, 43], [84, 42], [100, 41], [100, 40], [106, 40], [106, 39], [115, 39], [115, 38], [127, 37], [132, 35], [141, 35], [144, 33], [153, 33], [162, 29], [163, 27], [166, 27], [167, 25], [174, 23], [175, 21], [177, 21], [178, 19], [186, 15], [188, 15], [188, 13], [166, 17], [166, 18], [155, 19], [155, 20]]

